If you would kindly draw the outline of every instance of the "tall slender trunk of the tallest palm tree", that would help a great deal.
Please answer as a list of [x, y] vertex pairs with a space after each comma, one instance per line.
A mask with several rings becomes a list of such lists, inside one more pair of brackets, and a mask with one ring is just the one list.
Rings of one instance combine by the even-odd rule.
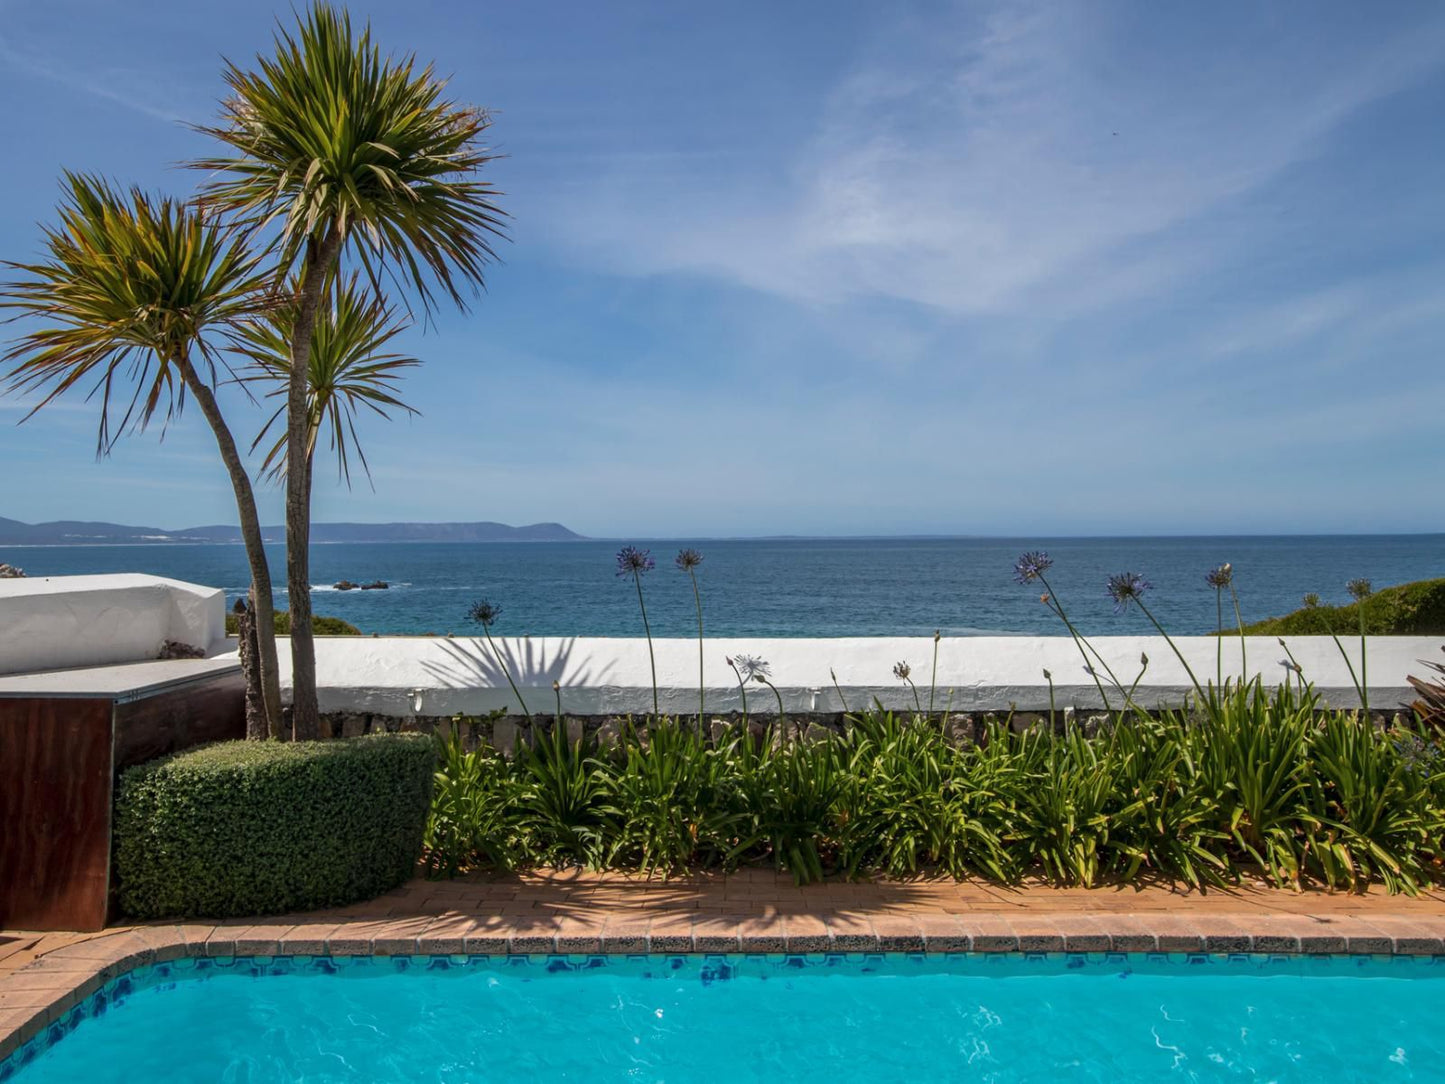
[[311, 633], [311, 337], [316, 328], [327, 275], [341, 251], [332, 225], [318, 243], [306, 243], [296, 315], [290, 337], [290, 383], [286, 389], [286, 591], [290, 597], [290, 726], [298, 741], [321, 736], [316, 704], [316, 643]]

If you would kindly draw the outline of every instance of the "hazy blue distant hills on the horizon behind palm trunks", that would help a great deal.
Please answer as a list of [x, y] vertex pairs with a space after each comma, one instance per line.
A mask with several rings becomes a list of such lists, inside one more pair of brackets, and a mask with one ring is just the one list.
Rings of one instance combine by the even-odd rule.
[[[262, 528], [267, 542], [285, 542], [282, 526]], [[312, 542], [574, 542], [575, 530], [561, 523], [312, 523]], [[120, 523], [88, 523], [62, 519], [53, 523], [22, 523], [0, 517], [0, 545], [9, 546], [97, 546], [165, 545], [176, 542], [240, 542], [240, 528], [205, 526], [166, 530]]]

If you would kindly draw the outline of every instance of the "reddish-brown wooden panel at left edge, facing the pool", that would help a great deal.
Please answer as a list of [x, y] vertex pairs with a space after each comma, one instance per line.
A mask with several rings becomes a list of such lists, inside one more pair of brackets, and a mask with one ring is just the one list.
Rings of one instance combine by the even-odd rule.
[[105, 925], [110, 714], [107, 700], [0, 700], [0, 926]]

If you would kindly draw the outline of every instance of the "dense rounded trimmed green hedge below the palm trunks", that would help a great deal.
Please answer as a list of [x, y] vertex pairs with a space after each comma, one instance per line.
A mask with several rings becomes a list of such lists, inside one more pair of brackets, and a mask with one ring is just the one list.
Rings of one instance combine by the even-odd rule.
[[426, 734], [221, 741], [129, 769], [116, 882], [133, 918], [244, 916], [370, 899], [422, 851]]

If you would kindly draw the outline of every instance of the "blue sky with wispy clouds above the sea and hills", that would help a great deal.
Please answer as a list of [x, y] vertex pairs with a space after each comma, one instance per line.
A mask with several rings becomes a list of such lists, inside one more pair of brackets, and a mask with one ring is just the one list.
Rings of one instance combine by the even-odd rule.
[[[318, 519], [1445, 530], [1445, 6], [351, 10], [496, 111], [513, 225]], [[277, 14], [0, 0], [0, 256], [62, 168], [189, 191]], [[23, 408], [0, 516], [234, 522], [197, 410], [97, 463]]]

